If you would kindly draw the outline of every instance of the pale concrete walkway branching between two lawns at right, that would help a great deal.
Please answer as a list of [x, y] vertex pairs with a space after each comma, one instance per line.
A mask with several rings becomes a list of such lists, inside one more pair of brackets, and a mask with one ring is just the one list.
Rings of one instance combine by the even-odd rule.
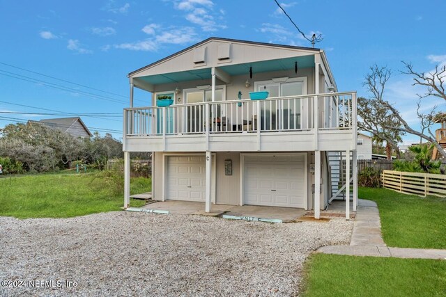
[[446, 259], [446, 250], [424, 248], [389, 248], [381, 236], [378, 206], [369, 200], [358, 201], [350, 246], [323, 246], [316, 252], [337, 255]]

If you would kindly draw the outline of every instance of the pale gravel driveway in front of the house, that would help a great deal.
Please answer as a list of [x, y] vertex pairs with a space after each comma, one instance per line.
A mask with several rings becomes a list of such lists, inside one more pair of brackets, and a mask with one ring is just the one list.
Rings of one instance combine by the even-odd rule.
[[269, 224], [124, 211], [0, 217], [0, 280], [25, 286], [0, 295], [293, 296], [307, 255], [348, 243], [352, 227], [344, 218]]

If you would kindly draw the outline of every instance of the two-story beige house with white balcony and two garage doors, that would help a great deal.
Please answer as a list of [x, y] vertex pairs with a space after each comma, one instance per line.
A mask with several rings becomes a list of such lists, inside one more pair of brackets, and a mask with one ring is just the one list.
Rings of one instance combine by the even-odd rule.
[[[125, 207], [130, 152], [153, 152], [154, 200], [205, 202], [206, 212], [212, 204], [314, 209], [316, 218], [333, 195], [329, 156], [351, 154], [356, 164], [356, 93], [337, 93], [321, 49], [209, 38], [128, 77]], [[132, 107], [134, 87], [151, 94], [149, 106]], [[269, 97], [251, 100], [254, 91]]]

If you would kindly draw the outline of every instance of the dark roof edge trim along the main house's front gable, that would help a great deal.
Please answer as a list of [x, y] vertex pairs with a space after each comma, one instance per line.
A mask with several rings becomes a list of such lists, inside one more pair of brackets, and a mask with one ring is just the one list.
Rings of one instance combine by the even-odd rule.
[[237, 39], [230, 39], [230, 38], [210, 37], [210, 38], [208, 38], [208, 39], [206, 39], [206, 40], [203, 40], [203, 41], [201, 41], [201, 42], [198, 42], [198, 43], [195, 44], [195, 45], [191, 45], [190, 47], [187, 47], [187, 48], [185, 48], [185, 49], [182, 49], [181, 51], [177, 51], [176, 53], [171, 54], [170, 56], [167, 56], [167, 57], [165, 57], [165, 58], [162, 58], [161, 60], [158, 60], [158, 61], [156, 61], [156, 62], [154, 62], [154, 63], [151, 63], [151, 64], [146, 65], [146, 66], [144, 66], [144, 67], [141, 67], [141, 68], [139, 68], [139, 69], [137, 69], [137, 70], [134, 70], [134, 71], [132, 71], [132, 72], [130, 72], [130, 73], [128, 74], [128, 77], [131, 77], [132, 75], [137, 74], [138, 72], [141, 72], [141, 71], [143, 71], [143, 70], [146, 70], [146, 69], [148, 69], [148, 68], [151, 68], [151, 67], [153, 67], [153, 66], [155, 66], [155, 65], [157, 65], [157, 64], [160, 64], [160, 63], [162, 63], [162, 62], [164, 62], [164, 61], [168, 61], [168, 60], [170, 60], [171, 58], [174, 58], [175, 56], [179, 56], [180, 54], [183, 54], [183, 53], [185, 53], [186, 51], [190, 51], [191, 49], [194, 49], [195, 47], [199, 47], [199, 46], [201, 46], [201, 45], [204, 45], [204, 44], [206, 44], [206, 43], [208, 43], [208, 42], [210, 42], [210, 41], [237, 42], [237, 43], [243, 43], [243, 44], [245, 44], [245, 45], [260, 45], [260, 46], [263, 46], [263, 47], [279, 47], [279, 48], [282, 48], [282, 49], [300, 49], [300, 50], [314, 51], [314, 52], [319, 52], [319, 51], [321, 51], [321, 49], [313, 48], [313, 47], [297, 47], [297, 46], [293, 46], [293, 45], [278, 45], [278, 44], [275, 44], [275, 43], [254, 42], [254, 41], [237, 40]]

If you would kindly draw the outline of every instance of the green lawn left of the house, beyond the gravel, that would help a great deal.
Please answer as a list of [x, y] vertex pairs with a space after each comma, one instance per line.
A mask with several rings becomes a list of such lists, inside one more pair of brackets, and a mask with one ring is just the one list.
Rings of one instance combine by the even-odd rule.
[[[123, 206], [123, 193], [117, 183], [123, 178], [102, 172], [83, 174], [26, 175], [0, 179], [0, 216], [16, 218], [68, 218]], [[151, 180], [132, 178], [130, 192], [151, 191]], [[144, 202], [131, 200], [139, 207]]]

